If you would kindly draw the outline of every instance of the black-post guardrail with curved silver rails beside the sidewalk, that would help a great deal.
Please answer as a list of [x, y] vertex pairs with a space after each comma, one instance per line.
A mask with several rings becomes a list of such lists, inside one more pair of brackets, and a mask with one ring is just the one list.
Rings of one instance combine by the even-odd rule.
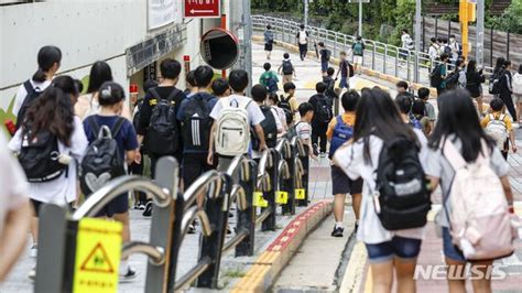
[[[304, 198], [296, 200], [296, 189], [307, 191], [307, 155], [300, 139], [281, 139], [261, 159], [236, 156], [225, 172], [203, 174], [183, 194], [177, 193], [177, 162], [162, 158], [154, 182], [140, 176], [110, 181], [70, 216], [64, 207], [44, 205], [40, 235], [45, 237], [41, 237], [39, 246], [34, 291], [73, 291], [79, 221], [96, 217], [107, 203], [131, 191], [150, 194], [154, 203], [149, 242], [131, 241], [121, 251], [121, 258], [133, 253], [149, 257], [145, 292], [174, 292], [189, 284], [216, 289], [222, 253], [235, 248], [236, 257], [252, 256], [255, 226], [261, 224], [262, 230], [275, 230], [278, 204], [285, 214], [295, 214], [296, 204], [307, 205], [306, 192]], [[259, 193], [265, 200], [260, 207], [254, 203]], [[284, 203], [276, 198], [281, 193], [286, 195], [282, 196]], [[236, 235], [225, 241], [232, 204], [237, 206]], [[189, 224], [196, 218], [202, 226], [198, 260], [184, 275], [177, 276], [180, 249]]]

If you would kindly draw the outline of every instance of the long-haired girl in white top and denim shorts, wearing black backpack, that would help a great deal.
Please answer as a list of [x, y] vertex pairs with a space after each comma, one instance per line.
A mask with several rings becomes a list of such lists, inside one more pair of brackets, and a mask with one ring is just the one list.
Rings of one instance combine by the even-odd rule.
[[374, 292], [391, 292], [394, 270], [398, 292], [415, 292], [413, 272], [424, 235], [424, 227], [387, 230], [376, 213], [371, 191], [376, 188], [379, 155], [383, 141], [396, 137], [417, 143], [420, 161], [424, 161], [424, 134], [404, 123], [388, 93], [379, 88], [365, 89], [357, 107], [352, 142], [342, 145], [334, 155], [335, 164], [351, 180], [361, 177], [365, 181], [357, 238], [368, 250]]

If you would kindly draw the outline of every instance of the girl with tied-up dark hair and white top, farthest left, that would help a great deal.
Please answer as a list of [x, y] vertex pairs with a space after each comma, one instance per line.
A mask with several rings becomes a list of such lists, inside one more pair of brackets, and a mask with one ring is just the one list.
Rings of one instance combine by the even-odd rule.
[[25, 80], [17, 91], [13, 113], [17, 128], [22, 127], [29, 107], [51, 85], [62, 62], [62, 51], [55, 46], [43, 46], [39, 51], [39, 68], [31, 79]]

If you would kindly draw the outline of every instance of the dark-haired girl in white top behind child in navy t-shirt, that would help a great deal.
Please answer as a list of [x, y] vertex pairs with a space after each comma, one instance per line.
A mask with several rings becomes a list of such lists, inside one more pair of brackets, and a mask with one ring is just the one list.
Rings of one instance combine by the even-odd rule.
[[[90, 67], [89, 86], [87, 94], [81, 95], [74, 106], [75, 113], [84, 120], [86, 117], [97, 115], [100, 110], [98, 102], [98, 89], [105, 82], [112, 82], [112, 70], [105, 61], [98, 61]], [[123, 102], [121, 117], [131, 120], [131, 112], [128, 102]]]

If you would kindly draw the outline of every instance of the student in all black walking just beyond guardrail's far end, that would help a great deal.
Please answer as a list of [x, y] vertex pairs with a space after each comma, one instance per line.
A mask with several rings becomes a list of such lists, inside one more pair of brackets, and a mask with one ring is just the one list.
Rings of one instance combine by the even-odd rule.
[[[326, 155], [326, 131], [328, 123], [334, 118], [334, 111], [331, 109], [331, 99], [328, 98], [326, 93], [326, 84], [317, 83], [315, 86], [317, 94], [312, 96], [308, 100], [314, 107], [314, 119], [312, 120], [312, 143], [314, 145], [314, 154]], [[317, 150], [317, 145], [319, 149]]]

